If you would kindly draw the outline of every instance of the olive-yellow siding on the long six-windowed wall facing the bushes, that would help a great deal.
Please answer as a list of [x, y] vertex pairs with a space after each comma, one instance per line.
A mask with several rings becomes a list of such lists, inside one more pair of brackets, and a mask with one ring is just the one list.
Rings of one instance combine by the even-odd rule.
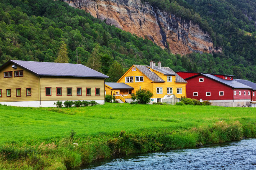
[[[46, 96], [45, 87], [51, 87], [51, 96]], [[56, 95], [56, 87], [62, 87], [62, 96]], [[72, 96], [67, 96], [67, 87], [72, 87]], [[82, 87], [82, 96], [77, 96], [77, 87]], [[41, 101], [47, 100], [104, 100], [104, 79], [41, 77]], [[91, 88], [91, 96], [86, 95], [86, 88]], [[100, 88], [100, 95], [95, 95], [95, 88]]]

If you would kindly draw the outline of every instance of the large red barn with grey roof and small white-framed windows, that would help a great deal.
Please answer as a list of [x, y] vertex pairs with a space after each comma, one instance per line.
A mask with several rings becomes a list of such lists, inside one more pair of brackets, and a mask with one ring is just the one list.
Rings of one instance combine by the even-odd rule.
[[212, 105], [249, 105], [252, 87], [233, 80], [233, 75], [177, 72], [187, 81], [187, 97], [209, 100]]

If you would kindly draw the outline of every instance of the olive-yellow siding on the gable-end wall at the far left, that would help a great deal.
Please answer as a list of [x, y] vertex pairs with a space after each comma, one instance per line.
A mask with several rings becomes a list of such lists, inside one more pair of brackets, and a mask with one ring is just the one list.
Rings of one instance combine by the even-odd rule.
[[[33, 73], [18, 67], [12, 68], [13, 64], [8, 65], [0, 71], [0, 89], [2, 97], [0, 102], [16, 101], [38, 101], [39, 100], [39, 78]], [[23, 77], [14, 77], [14, 71], [23, 70]], [[12, 71], [13, 77], [4, 78], [4, 72]], [[16, 97], [16, 88], [21, 88], [21, 96]], [[26, 88], [31, 88], [31, 96], [26, 96]], [[6, 97], [6, 89], [11, 89], [11, 97]]]

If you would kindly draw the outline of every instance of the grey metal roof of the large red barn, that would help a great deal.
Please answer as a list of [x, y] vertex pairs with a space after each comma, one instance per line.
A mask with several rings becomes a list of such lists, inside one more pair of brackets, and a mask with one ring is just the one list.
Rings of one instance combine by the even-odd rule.
[[209, 77], [209, 78], [211, 78], [213, 80], [216, 80], [218, 82], [221, 82], [221, 83], [223, 83], [225, 85], [228, 85], [230, 87], [233, 87], [233, 88], [252, 89], [252, 87], [244, 85], [244, 84], [242, 84], [242, 83], [240, 83], [240, 82], [238, 82], [236, 80], [223, 80], [222, 78], [217, 77], [215, 75], [204, 74], [204, 73], [202, 73], [202, 75], [204, 75], [206, 77]]

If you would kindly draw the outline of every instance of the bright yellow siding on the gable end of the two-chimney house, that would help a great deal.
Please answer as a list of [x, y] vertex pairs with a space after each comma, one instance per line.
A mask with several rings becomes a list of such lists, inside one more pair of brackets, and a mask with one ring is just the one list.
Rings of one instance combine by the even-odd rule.
[[[134, 67], [134, 66], [132, 66], [132, 67]], [[151, 80], [149, 80], [148, 77], [143, 75], [142, 72], [138, 70], [138, 68], [136, 68], [136, 71], [132, 71], [131, 68], [126, 72], [125, 76], [123, 76], [120, 80], [118, 80], [118, 82], [124, 82], [125, 84], [133, 87], [134, 88], [132, 90], [133, 93], [135, 93], [137, 90], [139, 90], [140, 87], [141, 87], [141, 89], [148, 89], [148, 90], [152, 91]], [[135, 82], [135, 76], [143, 76], [144, 81], [143, 82]], [[133, 77], [133, 82], [125, 82], [125, 77]]]

